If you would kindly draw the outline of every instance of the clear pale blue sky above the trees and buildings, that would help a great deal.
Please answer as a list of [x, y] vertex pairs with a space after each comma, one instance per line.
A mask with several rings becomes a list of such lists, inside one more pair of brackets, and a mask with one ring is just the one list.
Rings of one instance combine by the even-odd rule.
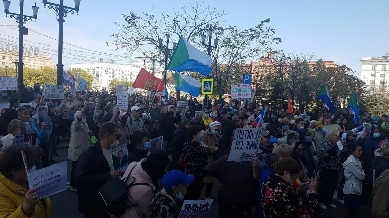
[[[53, 0], [54, 2], [58, 0]], [[11, 10], [18, 9], [18, 0], [11, 0]], [[31, 0], [25, 0], [25, 14], [32, 14]], [[195, 3], [191, 0], [190, 3]], [[172, 11], [184, 4], [182, 0], [129, 1], [129, 0], [82, 0], [79, 15], [65, 18], [65, 42], [74, 43], [98, 51], [109, 51], [104, 43], [115, 33], [115, 21], [123, 21], [122, 13], [133, 10], [142, 13], [151, 11], [155, 3], [156, 14]], [[73, 0], [65, 4], [74, 5]], [[186, 3], [187, 4], [187, 3]], [[362, 57], [382, 56], [389, 52], [387, 9], [389, 1], [377, 0], [207, 0], [204, 5], [224, 10], [224, 25], [236, 25], [240, 29], [250, 28], [260, 20], [270, 18], [270, 26], [277, 29], [282, 43], [276, 46], [286, 52], [314, 54], [326, 61], [345, 64], [360, 72]], [[44, 9], [42, 2], [38, 19], [26, 27], [58, 38], [58, 23], [53, 10]], [[3, 10], [0, 7], [1, 11]], [[0, 24], [16, 24], [3, 13]], [[0, 27], [0, 34], [18, 36], [15, 29]], [[47, 38], [30, 32], [25, 39], [55, 45]], [[66, 46], [65, 46], [66, 47]], [[112, 53], [112, 52], [111, 52]], [[116, 53], [118, 54], [118, 53]], [[56, 59], [56, 57], [53, 57]], [[65, 67], [75, 62], [64, 59]]]

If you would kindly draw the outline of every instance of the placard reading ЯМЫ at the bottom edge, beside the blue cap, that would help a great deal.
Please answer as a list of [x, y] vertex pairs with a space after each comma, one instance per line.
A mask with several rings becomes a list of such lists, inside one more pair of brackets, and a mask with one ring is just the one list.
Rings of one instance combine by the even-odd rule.
[[179, 218], [204, 218], [211, 208], [214, 199], [206, 199], [200, 201], [185, 200], [179, 214]]

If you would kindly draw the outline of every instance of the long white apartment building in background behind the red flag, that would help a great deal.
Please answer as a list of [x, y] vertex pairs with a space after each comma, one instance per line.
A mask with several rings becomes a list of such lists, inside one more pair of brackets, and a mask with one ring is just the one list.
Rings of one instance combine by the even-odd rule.
[[[138, 76], [141, 66], [130, 66], [122, 64], [110, 64], [110, 63], [85, 63], [85, 64], [72, 64], [71, 69], [81, 68], [88, 71], [95, 78], [93, 86], [98, 90], [109, 90], [109, 83], [112, 79], [134, 82]], [[150, 69], [147, 69], [150, 71]], [[162, 78], [162, 72], [154, 71], [154, 76]]]

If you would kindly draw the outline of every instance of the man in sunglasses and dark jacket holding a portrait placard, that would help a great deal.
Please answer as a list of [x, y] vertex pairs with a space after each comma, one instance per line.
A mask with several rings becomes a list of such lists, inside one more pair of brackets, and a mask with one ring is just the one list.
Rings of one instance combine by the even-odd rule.
[[120, 126], [108, 121], [100, 126], [99, 139], [86, 148], [77, 160], [74, 183], [77, 185], [78, 209], [84, 217], [110, 217], [101, 200], [99, 189], [108, 180], [123, 174], [114, 171], [111, 149], [119, 146]]

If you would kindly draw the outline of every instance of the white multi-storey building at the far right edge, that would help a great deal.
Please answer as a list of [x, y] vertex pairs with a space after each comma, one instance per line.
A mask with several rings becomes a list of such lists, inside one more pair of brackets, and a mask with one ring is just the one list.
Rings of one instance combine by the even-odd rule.
[[361, 80], [373, 90], [389, 80], [389, 57], [364, 57], [361, 60]]

